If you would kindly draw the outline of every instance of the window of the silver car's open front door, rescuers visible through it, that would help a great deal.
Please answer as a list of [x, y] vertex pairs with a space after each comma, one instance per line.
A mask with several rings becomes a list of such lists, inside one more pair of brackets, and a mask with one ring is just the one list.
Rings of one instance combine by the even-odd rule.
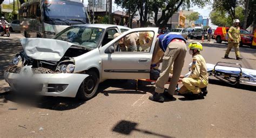
[[122, 52], [150, 52], [154, 32], [134, 32], [125, 35], [114, 43], [115, 53]]

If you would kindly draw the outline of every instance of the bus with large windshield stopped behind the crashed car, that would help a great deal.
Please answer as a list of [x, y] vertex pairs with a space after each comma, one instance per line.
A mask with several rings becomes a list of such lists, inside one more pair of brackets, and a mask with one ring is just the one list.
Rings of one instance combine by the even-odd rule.
[[21, 5], [19, 17], [26, 38], [52, 38], [70, 25], [90, 24], [80, 0], [31, 0]]

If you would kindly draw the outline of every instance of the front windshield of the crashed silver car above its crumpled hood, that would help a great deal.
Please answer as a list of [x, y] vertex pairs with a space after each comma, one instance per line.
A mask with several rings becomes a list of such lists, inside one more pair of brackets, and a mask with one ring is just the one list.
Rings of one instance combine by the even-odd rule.
[[96, 27], [71, 26], [58, 33], [53, 39], [67, 41], [89, 48], [96, 48], [104, 29]]

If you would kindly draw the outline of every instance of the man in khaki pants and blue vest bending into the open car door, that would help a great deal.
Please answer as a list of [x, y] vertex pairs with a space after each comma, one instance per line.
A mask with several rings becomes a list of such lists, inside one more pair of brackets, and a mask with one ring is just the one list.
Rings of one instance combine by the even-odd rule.
[[[178, 34], [162, 34], [158, 37], [156, 47], [156, 51], [161, 48], [161, 50], [163, 50], [165, 53], [162, 57], [163, 64], [160, 77], [156, 82], [156, 93], [154, 93], [153, 96], [150, 96], [149, 99], [153, 101], [164, 102], [163, 93], [169, 99], [173, 99], [174, 91], [178, 84], [186, 56], [186, 40]], [[170, 81], [171, 84], [169, 85], [168, 92], [164, 92], [164, 85], [169, 79], [169, 73], [172, 68], [172, 64], [173, 76]]]

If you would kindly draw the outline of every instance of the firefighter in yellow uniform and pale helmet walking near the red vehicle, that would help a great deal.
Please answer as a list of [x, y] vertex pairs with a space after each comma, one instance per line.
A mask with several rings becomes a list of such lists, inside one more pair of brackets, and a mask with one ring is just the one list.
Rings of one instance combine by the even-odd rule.
[[230, 54], [231, 49], [234, 47], [237, 60], [242, 60], [239, 52], [239, 42], [241, 41], [239, 23], [239, 19], [234, 19], [234, 26], [231, 26], [230, 30], [228, 30], [228, 45], [224, 57], [225, 59], [230, 59], [228, 55]]

